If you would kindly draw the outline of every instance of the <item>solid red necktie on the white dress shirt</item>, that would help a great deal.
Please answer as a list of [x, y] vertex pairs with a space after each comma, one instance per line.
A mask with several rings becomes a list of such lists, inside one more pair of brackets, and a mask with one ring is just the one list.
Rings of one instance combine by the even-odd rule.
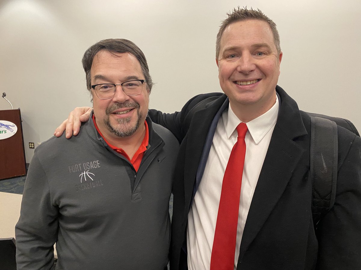
[[228, 159], [223, 176], [216, 231], [214, 232], [210, 270], [233, 270], [236, 250], [239, 197], [246, 144], [247, 125], [237, 126], [238, 138]]

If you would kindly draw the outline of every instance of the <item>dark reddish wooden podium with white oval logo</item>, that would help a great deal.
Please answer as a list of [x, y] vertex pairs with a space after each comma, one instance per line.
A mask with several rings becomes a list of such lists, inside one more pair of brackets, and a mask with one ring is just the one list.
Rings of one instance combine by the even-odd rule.
[[0, 111], [0, 136], [14, 130], [14, 125], [6, 125], [5, 121], [15, 124], [17, 131], [9, 138], [0, 137], [0, 179], [26, 175], [20, 109]]

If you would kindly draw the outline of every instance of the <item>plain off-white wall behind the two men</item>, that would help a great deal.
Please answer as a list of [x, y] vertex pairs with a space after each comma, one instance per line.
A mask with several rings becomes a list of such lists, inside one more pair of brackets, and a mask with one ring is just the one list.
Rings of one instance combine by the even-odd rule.
[[[130, 39], [143, 50], [157, 83], [151, 108], [173, 112], [193, 95], [221, 91], [214, 42], [238, 5], [277, 23], [278, 84], [299, 107], [361, 130], [361, 1], [2, 0], [0, 92], [21, 108], [26, 161], [29, 141], [47, 140], [74, 107], [90, 105], [81, 58], [101, 39]], [[0, 109], [10, 109], [6, 100]]]

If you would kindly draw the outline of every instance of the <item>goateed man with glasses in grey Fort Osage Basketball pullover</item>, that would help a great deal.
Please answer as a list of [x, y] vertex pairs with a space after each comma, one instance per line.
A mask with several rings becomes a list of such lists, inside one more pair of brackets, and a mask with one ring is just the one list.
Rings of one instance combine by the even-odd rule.
[[178, 141], [147, 117], [143, 52], [102, 40], [83, 56], [93, 112], [35, 150], [16, 225], [17, 269], [167, 269]]

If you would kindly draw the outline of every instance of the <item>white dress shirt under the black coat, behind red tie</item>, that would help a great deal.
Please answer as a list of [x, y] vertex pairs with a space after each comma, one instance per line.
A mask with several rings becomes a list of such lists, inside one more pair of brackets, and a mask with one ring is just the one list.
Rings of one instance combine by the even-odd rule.
[[[244, 225], [253, 193], [278, 116], [276, 103], [266, 113], [249, 121], [245, 136], [246, 153], [239, 202], [234, 269], [236, 269]], [[218, 120], [204, 174], [188, 213], [187, 259], [189, 270], [209, 270], [214, 231], [216, 229], [223, 175], [229, 156], [237, 141], [236, 127], [241, 121], [231, 107]]]

